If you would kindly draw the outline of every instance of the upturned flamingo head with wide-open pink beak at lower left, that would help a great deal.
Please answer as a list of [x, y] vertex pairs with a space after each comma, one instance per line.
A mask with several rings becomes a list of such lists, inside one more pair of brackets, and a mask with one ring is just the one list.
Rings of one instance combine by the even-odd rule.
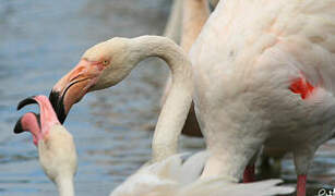
[[14, 133], [29, 132], [38, 148], [39, 162], [47, 176], [55, 183], [73, 179], [76, 172], [76, 150], [72, 135], [60, 124], [46, 96], [29, 97], [21, 101], [17, 110], [38, 103], [40, 114], [25, 113], [14, 127]]

